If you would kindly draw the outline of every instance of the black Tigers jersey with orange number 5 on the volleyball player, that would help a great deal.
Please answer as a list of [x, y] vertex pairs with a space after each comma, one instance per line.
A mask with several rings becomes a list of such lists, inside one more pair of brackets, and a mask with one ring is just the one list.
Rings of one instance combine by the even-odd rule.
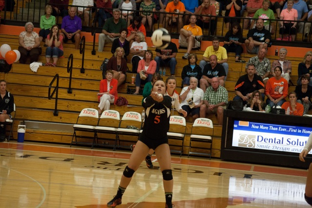
[[166, 138], [169, 131], [169, 120], [172, 99], [165, 95], [162, 102], [156, 102], [152, 96], [148, 96], [143, 101], [145, 108], [145, 121], [142, 136], [152, 140]]

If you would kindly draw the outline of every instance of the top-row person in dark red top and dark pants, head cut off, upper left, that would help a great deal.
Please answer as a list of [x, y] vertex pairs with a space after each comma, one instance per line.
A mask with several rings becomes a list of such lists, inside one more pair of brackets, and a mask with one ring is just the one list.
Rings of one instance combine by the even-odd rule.
[[103, 27], [106, 19], [113, 17], [113, 5], [111, 0], [97, 0], [98, 27]]

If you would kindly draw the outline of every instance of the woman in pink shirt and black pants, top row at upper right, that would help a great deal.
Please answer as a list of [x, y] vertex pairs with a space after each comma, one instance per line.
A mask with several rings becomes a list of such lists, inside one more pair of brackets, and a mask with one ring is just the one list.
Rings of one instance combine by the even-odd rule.
[[[296, 36], [296, 25], [297, 25], [296, 20], [298, 19], [298, 13], [297, 13], [297, 10], [292, 8], [292, 5], [293, 5], [293, 0], [288, 0], [287, 8], [282, 10], [280, 19], [284, 21], [279, 21], [279, 24], [280, 24], [279, 38], [282, 39], [285, 34], [289, 34], [292, 36], [292, 41], [293, 41]], [[290, 20], [290, 21], [285, 22], [285, 20]]]

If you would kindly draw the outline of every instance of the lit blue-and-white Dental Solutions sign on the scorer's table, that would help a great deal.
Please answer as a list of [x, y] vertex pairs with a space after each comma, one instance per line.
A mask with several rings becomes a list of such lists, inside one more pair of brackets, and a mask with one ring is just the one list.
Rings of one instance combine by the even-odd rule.
[[309, 127], [234, 120], [232, 146], [300, 153], [311, 132]]

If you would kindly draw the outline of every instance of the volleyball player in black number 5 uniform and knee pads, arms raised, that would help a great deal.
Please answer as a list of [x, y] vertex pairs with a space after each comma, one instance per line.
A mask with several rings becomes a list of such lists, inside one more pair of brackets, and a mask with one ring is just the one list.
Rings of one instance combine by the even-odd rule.
[[171, 110], [171, 97], [166, 94], [166, 83], [162, 80], [154, 82], [152, 93], [143, 101], [145, 122], [143, 132], [133, 150], [129, 164], [123, 171], [116, 196], [107, 203], [108, 207], [115, 208], [121, 204], [121, 198], [128, 187], [134, 172], [150, 149], [155, 150], [163, 176], [163, 186], [166, 196], [166, 208], [172, 208], [173, 176], [171, 170], [171, 155], [168, 145], [167, 132]]

